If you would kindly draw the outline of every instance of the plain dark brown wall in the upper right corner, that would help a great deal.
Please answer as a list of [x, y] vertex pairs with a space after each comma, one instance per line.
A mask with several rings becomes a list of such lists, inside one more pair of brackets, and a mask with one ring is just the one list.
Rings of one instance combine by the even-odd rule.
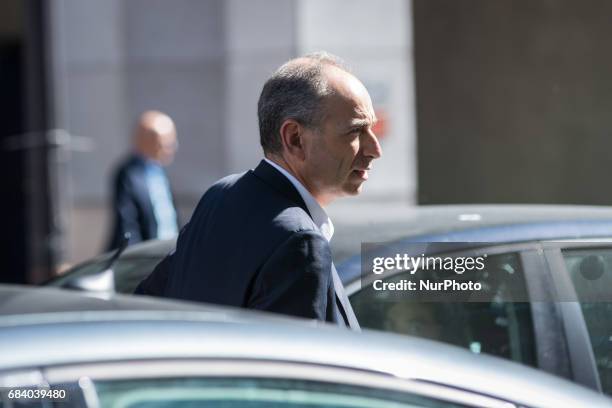
[[419, 201], [612, 203], [610, 15], [415, 0]]

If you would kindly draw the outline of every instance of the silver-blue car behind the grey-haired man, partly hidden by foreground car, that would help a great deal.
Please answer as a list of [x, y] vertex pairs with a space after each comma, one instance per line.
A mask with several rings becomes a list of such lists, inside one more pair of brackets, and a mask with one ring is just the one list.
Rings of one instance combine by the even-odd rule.
[[[338, 272], [362, 326], [461, 346], [540, 368], [612, 394], [612, 305], [590, 302], [583, 276], [612, 277], [612, 209], [582, 206], [426, 206], [363, 214], [332, 240]], [[361, 279], [363, 242], [458, 242], [466, 254], [486, 252], [530, 298], [522, 302], [393, 305]], [[131, 293], [174, 241], [128, 248], [116, 263], [118, 292]], [[63, 286], [100, 270], [110, 255], [88, 261], [49, 282]], [[595, 270], [597, 269], [597, 270]], [[401, 279], [401, 273], [385, 279]], [[483, 282], [486, 276], [482, 277]], [[558, 302], [565, 282], [578, 302]], [[590, 289], [591, 288], [591, 289]], [[610, 285], [598, 285], [612, 293]], [[551, 292], [552, 291], [552, 292]], [[405, 307], [404, 307], [405, 306]]]

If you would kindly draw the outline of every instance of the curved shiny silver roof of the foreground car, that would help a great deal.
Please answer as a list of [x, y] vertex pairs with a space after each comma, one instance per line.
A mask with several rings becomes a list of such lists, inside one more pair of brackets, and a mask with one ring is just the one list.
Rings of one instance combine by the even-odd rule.
[[[13, 287], [1, 294], [10, 299], [0, 304], [0, 373], [126, 360], [258, 360], [344, 367], [536, 406], [610, 406], [603, 396], [535, 369], [423, 339], [155, 299], [146, 299], [145, 310], [137, 297], [136, 303], [98, 299], [108, 303], [105, 309], [60, 289]], [[17, 314], [28, 296], [70, 299], [64, 311]], [[75, 297], [84, 300], [80, 309]]]

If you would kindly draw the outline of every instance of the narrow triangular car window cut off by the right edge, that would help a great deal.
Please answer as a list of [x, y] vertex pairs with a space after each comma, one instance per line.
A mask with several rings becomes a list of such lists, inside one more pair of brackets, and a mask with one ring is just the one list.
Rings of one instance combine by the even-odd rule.
[[601, 387], [612, 394], [612, 249], [563, 251], [589, 332]]

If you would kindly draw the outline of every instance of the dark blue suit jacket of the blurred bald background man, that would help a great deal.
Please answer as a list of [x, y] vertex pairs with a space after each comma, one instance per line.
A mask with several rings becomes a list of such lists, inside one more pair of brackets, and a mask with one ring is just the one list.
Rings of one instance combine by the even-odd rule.
[[113, 231], [108, 250], [119, 247], [129, 232], [130, 244], [157, 238], [157, 220], [147, 180], [145, 160], [131, 155], [117, 168], [113, 177]]

